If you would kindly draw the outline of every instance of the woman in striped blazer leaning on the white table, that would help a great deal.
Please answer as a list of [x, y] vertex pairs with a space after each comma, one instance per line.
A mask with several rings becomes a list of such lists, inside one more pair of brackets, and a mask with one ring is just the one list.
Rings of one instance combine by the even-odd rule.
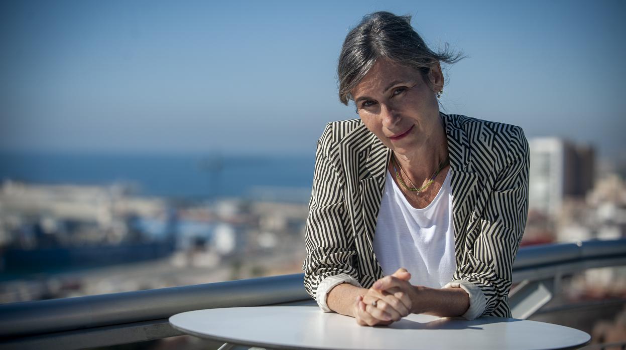
[[439, 112], [444, 78], [410, 17], [375, 12], [346, 37], [339, 97], [359, 119], [319, 139], [305, 287], [362, 326], [410, 313], [510, 317], [528, 212], [517, 126]]

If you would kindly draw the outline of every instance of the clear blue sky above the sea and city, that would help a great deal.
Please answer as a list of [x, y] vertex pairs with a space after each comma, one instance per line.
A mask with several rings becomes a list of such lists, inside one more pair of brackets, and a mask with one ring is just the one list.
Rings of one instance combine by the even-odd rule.
[[623, 1], [4, 1], [0, 151], [312, 154], [356, 118], [336, 61], [368, 12], [411, 14], [447, 113], [625, 159]]

